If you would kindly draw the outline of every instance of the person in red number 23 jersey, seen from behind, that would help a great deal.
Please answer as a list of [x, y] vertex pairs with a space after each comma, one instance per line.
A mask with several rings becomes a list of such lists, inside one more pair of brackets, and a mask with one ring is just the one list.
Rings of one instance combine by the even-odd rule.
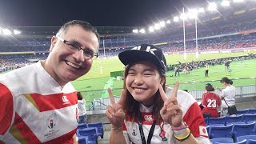
[[214, 87], [210, 84], [206, 84], [206, 93], [202, 94], [202, 114], [210, 114], [210, 117], [218, 117], [218, 106], [221, 106], [222, 100], [218, 94], [214, 93]]

